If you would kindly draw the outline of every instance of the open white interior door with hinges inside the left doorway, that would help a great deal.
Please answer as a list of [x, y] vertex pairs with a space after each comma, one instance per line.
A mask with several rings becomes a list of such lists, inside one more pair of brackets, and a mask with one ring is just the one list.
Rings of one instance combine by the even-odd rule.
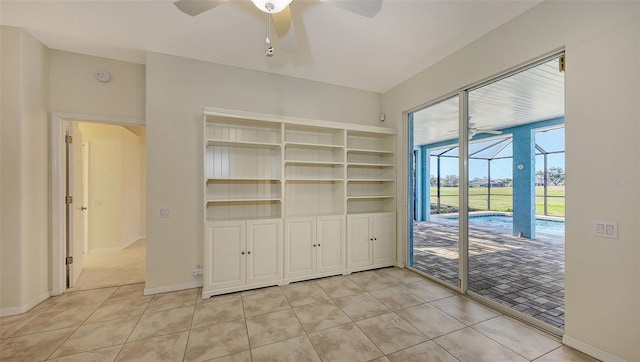
[[68, 287], [73, 287], [82, 273], [82, 256], [84, 251], [84, 193], [82, 182], [82, 133], [77, 122], [69, 123], [68, 135], [71, 143], [67, 144], [67, 195], [72, 202], [67, 204], [67, 259]]

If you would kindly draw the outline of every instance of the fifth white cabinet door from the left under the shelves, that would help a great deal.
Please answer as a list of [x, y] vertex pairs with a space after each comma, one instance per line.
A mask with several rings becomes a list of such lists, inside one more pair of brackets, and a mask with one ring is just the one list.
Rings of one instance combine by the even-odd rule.
[[373, 264], [372, 223], [373, 217], [369, 214], [347, 216], [349, 268]]

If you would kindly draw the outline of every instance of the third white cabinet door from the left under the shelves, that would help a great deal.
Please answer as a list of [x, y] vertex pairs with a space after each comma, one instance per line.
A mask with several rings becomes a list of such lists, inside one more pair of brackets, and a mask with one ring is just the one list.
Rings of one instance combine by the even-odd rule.
[[316, 270], [316, 218], [285, 220], [285, 277], [313, 274]]

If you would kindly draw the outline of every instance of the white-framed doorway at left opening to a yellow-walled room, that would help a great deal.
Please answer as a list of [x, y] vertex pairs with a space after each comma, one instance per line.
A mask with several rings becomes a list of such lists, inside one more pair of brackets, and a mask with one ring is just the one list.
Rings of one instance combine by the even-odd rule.
[[52, 116], [52, 295], [145, 281], [144, 121]]

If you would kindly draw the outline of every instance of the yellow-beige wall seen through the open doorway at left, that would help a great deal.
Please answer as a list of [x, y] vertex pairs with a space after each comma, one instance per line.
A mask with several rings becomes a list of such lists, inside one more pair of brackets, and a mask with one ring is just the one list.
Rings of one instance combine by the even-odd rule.
[[81, 122], [89, 142], [89, 252], [120, 249], [144, 236], [143, 140], [122, 126]]

